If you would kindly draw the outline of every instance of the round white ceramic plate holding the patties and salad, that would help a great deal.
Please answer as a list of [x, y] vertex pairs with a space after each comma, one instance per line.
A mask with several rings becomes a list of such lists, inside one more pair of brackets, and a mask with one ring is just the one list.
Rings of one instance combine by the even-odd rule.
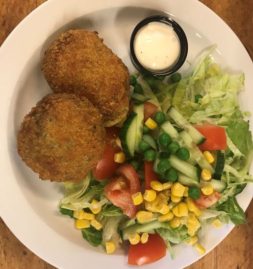
[[[41, 72], [46, 48], [56, 36], [70, 28], [97, 30], [104, 43], [133, 71], [129, 58], [129, 37], [137, 22], [150, 15], [173, 17], [186, 32], [188, 61], [205, 47], [217, 44], [215, 61], [232, 72], [245, 72], [246, 91], [240, 96], [244, 110], [253, 112], [253, 64], [236, 35], [215, 13], [197, 0], [48, 0], [21, 22], [0, 48], [0, 215], [17, 238], [50, 264], [62, 268], [128, 268], [127, 250], [106, 255], [91, 247], [74, 228], [74, 222], [58, 211], [63, 196], [60, 184], [42, 181], [22, 162], [16, 151], [16, 135], [23, 117], [45, 94], [51, 92]], [[180, 72], [191, 70], [187, 63]], [[252, 199], [253, 185], [238, 195], [245, 210]], [[211, 229], [207, 252], [233, 228]], [[183, 268], [201, 257], [191, 247], [168, 254], [145, 268]]]

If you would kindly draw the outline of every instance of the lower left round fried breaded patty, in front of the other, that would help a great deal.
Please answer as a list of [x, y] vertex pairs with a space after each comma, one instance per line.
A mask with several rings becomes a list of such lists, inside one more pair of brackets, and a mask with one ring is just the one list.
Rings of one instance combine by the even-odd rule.
[[105, 150], [101, 114], [84, 96], [48, 94], [25, 116], [17, 148], [41, 179], [80, 181]]

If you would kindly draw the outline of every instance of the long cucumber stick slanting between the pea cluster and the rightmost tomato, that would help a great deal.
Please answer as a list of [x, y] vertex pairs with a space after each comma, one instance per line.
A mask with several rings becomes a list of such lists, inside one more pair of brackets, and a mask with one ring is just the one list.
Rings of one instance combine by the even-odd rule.
[[192, 156], [196, 159], [198, 162], [199, 166], [202, 169], [207, 169], [211, 172], [211, 175], [215, 173], [215, 170], [211, 166], [209, 162], [205, 159], [203, 156], [201, 150], [198, 148], [197, 144], [193, 141], [192, 137], [190, 134], [186, 133], [185, 130], [180, 130], [179, 135], [183, 138], [184, 143], [186, 144], [188, 150], [192, 154]]

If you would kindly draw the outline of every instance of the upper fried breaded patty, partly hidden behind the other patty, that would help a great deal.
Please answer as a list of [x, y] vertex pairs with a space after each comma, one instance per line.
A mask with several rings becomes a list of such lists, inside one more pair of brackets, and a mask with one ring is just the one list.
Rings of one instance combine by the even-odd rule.
[[60, 34], [45, 52], [42, 70], [53, 92], [86, 96], [101, 112], [106, 127], [126, 117], [128, 69], [97, 32]]

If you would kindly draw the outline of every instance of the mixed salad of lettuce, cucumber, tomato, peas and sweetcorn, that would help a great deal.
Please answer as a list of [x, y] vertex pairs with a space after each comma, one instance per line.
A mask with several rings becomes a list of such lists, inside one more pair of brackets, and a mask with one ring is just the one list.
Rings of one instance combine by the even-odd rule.
[[128, 242], [128, 263], [141, 265], [166, 249], [174, 259], [180, 243], [204, 254], [199, 240], [209, 225], [247, 224], [236, 201], [253, 182], [250, 112], [238, 102], [244, 74], [212, 63], [214, 48], [183, 77], [131, 74], [130, 111], [104, 168], [116, 162], [113, 176], [97, 180], [93, 170], [78, 183], [64, 183], [60, 212], [75, 218], [92, 246], [112, 253]]

